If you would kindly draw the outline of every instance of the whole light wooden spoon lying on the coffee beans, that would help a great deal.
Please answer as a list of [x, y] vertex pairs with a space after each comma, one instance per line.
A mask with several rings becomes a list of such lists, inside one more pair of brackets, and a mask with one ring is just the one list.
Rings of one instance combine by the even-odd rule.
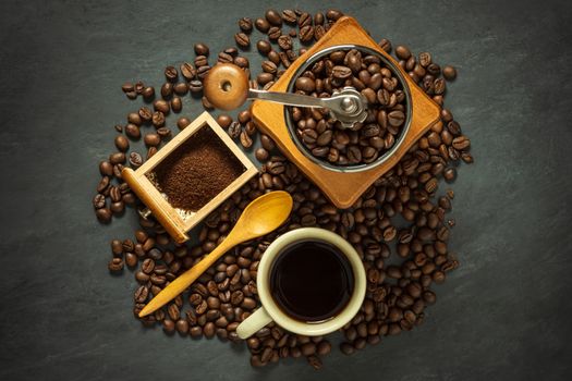
[[253, 200], [244, 209], [224, 241], [157, 294], [139, 312], [139, 318], [155, 312], [174, 299], [230, 248], [278, 229], [290, 216], [292, 204], [292, 197], [282, 190], [270, 192]]

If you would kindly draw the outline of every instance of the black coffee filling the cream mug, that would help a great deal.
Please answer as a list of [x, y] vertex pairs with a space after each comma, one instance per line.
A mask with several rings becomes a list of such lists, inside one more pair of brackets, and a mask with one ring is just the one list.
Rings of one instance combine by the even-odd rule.
[[301, 241], [281, 250], [270, 270], [276, 304], [292, 318], [318, 322], [337, 316], [354, 287], [352, 265], [336, 246]]

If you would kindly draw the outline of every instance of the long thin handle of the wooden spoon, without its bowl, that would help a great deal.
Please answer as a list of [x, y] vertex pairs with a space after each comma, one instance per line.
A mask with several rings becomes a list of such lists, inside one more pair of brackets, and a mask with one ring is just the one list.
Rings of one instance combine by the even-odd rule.
[[231, 247], [236, 243], [235, 239], [230, 238], [230, 235], [224, 238], [209, 255], [203, 258], [198, 263], [193, 266], [191, 269], [183, 272], [174, 281], [169, 283], [159, 294], [142, 309], [139, 312], [139, 318], [155, 312], [162, 306], [165, 306], [170, 300], [174, 299], [177, 295], [181, 294], [188, 287], [200, 274], [203, 274], [207, 269], [212, 266], [224, 253], [227, 253]]

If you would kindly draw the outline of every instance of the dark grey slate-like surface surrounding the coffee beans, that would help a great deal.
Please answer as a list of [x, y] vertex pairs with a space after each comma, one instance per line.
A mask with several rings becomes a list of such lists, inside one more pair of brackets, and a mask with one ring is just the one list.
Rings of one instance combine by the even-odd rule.
[[[254, 2], [253, 2], [254, 3]], [[288, 8], [277, 1], [273, 8]], [[302, 360], [253, 370], [243, 347], [168, 337], [132, 317], [132, 275], [107, 270], [90, 198], [112, 126], [135, 105], [125, 81], [233, 44], [245, 1], [0, 3], [0, 379], [570, 379], [572, 243], [571, 7], [567, 1], [324, 1], [372, 35], [459, 67], [447, 102], [471, 137], [451, 248], [461, 268], [426, 323], [314, 371]], [[256, 64], [256, 60], [254, 60]], [[183, 112], [195, 116], [198, 107]]]

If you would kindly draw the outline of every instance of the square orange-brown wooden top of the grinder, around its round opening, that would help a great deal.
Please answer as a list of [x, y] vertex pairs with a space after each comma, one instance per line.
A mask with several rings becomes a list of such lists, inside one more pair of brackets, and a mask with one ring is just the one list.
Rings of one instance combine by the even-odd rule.
[[253, 118], [260, 130], [271, 136], [280, 150], [292, 160], [336, 205], [349, 208], [378, 179], [389, 171], [411, 146], [439, 120], [440, 109], [418, 86], [411, 81], [398, 63], [374, 41], [352, 17], [340, 19], [331, 29], [306, 53], [301, 56], [270, 88], [271, 91], [287, 91], [295, 71], [316, 52], [336, 45], [361, 45], [378, 51], [393, 62], [401, 71], [411, 93], [412, 118], [409, 133], [399, 149], [386, 162], [362, 172], [338, 172], [325, 169], [307, 157], [292, 140], [284, 120], [284, 106], [268, 101], [255, 101]]

